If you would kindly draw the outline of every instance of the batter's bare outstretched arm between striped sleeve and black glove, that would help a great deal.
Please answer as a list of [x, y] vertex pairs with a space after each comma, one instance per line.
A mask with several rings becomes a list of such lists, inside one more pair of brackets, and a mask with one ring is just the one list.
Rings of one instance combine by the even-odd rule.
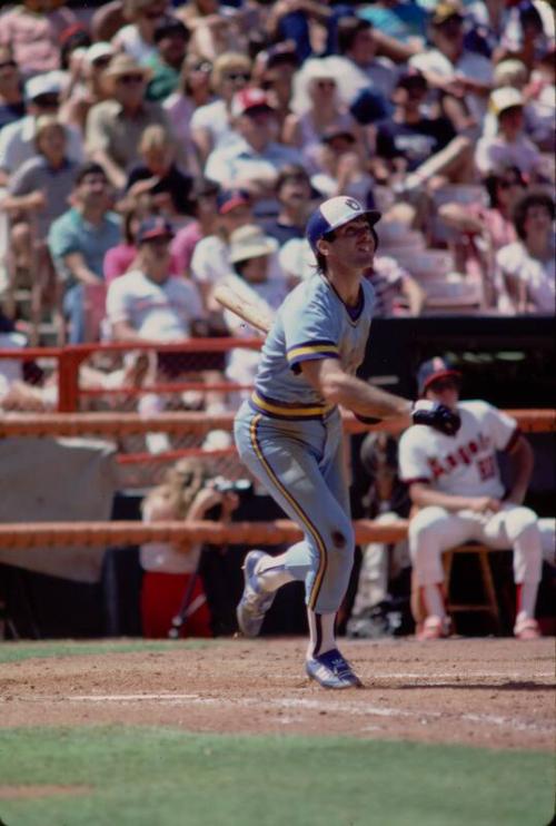
[[305, 378], [328, 404], [341, 404], [359, 416], [397, 419], [401, 427], [411, 423], [411, 402], [374, 387], [342, 370], [337, 358], [318, 358], [300, 364]]

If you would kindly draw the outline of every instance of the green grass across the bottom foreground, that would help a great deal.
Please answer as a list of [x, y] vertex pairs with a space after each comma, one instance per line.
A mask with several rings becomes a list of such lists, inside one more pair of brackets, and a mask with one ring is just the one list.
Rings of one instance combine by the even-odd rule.
[[[0, 729], [6, 826], [544, 826], [553, 758], [167, 728]], [[2, 785], [90, 793], [2, 799]]]

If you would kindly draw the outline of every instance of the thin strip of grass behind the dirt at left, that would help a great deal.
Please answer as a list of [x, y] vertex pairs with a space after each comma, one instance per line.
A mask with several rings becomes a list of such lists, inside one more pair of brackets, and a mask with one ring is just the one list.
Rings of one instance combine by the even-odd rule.
[[[79, 642], [79, 641], [42, 641], [42, 642], [3, 642], [0, 646], [0, 663], [20, 662], [44, 657], [75, 657], [98, 653], [133, 653], [142, 651], [168, 651], [172, 648], [205, 648], [211, 640], [122, 640], [118, 642]], [[1, 826], [1, 824], [0, 824]]]

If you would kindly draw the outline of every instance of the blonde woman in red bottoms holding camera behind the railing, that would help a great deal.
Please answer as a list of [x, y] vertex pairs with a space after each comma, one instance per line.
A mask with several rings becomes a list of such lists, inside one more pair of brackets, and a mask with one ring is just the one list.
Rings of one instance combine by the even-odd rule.
[[[207, 519], [220, 508], [219, 519], [229, 520], [239, 504], [232, 490], [221, 490], [199, 468], [185, 459], [167, 471], [162, 484], [153, 488], [142, 503], [143, 522]], [[202, 581], [198, 576], [200, 543], [176, 545], [147, 542], [140, 549], [145, 571], [141, 589], [141, 619], [145, 637], [168, 637], [172, 628], [180, 637], [212, 637], [211, 617]], [[185, 611], [181, 609], [185, 607]], [[175, 622], [175, 618], [178, 618]]]

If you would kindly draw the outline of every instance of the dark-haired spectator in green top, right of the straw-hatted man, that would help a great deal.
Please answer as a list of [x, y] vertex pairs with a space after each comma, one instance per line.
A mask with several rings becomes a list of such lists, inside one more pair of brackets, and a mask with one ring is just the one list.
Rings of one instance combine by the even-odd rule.
[[147, 100], [166, 100], [179, 85], [181, 65], [189, 42], [189, 29], [175, 17], [162, 17], [155, 29], [157, 53], [146, 60], [152, 71]]

